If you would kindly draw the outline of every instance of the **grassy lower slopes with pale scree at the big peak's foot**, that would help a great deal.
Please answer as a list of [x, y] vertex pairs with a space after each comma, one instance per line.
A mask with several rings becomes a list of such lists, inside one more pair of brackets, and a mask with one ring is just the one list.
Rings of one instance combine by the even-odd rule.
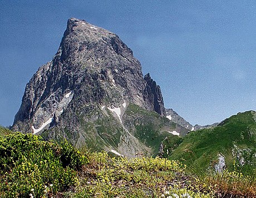
[[[169, 140], [176, 139], [168, 131], [188, 133], [187, 129], [164, 116], [132, 103], [127, 104], [121, 116], [122, 123], [109, 109], [101, 108], [101, 106], [92, 106], [90, 114], [77, 114], [76, 117], [79, 123], [75, 124], [76, 130], [72, 129], [73, 124], [67, 123], [68, 126], [65, 128], [57, 125], [50, 130], [43, 131], [40, 135], [44, 140], [63, 141], [67, 139], [78, 148], [87, 145], [87, 148], [92, 151], [114, 149], [122, 155], [129, 156], [131, 150], [135, 148], [134, 154], [156, 156], [161, 142], [166, 137]], [[127, 136], [132, 136], [132, 138], [126, 138]], [[132, 156], [134, 154], [132, 153]]]

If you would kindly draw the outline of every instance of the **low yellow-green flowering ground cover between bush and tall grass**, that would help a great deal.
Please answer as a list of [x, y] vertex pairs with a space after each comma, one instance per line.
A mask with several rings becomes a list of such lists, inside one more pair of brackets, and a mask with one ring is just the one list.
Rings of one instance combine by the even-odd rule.
[[210, 197], [185, 175], [178, 161], [161, 158], [110, 158], [105, 153], [90, 155], [80, 172], [80, 185], [67, 197]]

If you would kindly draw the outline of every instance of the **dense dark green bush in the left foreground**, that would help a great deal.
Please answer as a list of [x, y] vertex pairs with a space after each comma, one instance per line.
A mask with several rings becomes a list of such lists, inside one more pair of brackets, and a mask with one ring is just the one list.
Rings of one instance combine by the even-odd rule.
[[14, 133], [0, 139], [0, 197], [47, 197], [76, 184], [88, 158], [65, 141]]

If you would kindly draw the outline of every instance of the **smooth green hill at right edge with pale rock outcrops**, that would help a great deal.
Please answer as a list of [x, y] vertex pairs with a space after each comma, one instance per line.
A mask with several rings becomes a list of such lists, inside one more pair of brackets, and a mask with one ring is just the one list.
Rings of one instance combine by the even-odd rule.
[[[225, 119], [215, 128], [191, 131], [169, 158], [217, 171], [223, 167], [233, 170], [235, 161], [238, 169], [249, 171], [256, 167], [255, 145], [256, 112], [247, 111]], [[164, 148], [167, 152], [168, 145]]]

